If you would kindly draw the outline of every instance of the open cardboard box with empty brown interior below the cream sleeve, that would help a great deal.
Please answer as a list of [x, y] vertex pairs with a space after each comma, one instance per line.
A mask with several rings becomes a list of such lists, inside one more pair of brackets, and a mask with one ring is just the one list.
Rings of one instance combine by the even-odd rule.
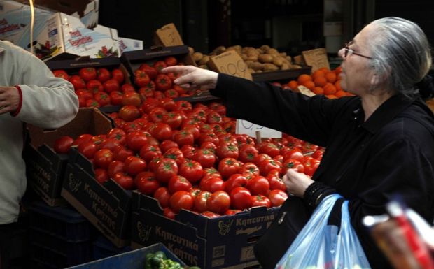
[[45, 203], [52, 206], [64, 203], [60, 190], [68, 156], [52, 149], [55, 140], [66, 135], [76, 138], [83, 133], [107, 133], [112, 126], [110, 119], [93, 108], [80, 109], [75, 119], [59, 129], [44, 130], [28, 125], [31, 143], [26, 145], [24, 154], [27, 180]]

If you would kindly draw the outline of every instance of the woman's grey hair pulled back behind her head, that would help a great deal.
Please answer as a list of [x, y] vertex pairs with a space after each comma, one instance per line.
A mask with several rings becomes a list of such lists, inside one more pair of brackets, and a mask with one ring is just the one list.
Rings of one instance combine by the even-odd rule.
[[432, 64], [426, 35], [417, 24], [400, 17], [384, 17], [370, 25], [376, 33], [370, 40], [371, 70], [386, 78], [388, 91], [416, 94], [414, 85], [425, 77]]

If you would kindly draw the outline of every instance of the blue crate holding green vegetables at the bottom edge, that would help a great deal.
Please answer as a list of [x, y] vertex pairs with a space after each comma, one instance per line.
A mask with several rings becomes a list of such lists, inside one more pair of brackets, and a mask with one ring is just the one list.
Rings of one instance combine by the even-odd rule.
[[98, 261], [91, 261], [90, 263], [69, 267], [67, 269], [144, 269], [146, 263], [146, 254], [154, 253], [159, 250], [165, 252], [167, 259], [177, 261], [181, 263], [181, 266], [186, 266], [186, 264], [183, 263], [183, 261], [181, 261], [177, 256], [175, 256], [175, 254], [170, 252], [165, 245], [158, 243], [149, 247], [136, 249], [131, 252], [125, 252], [116, 256], [100, 259]]

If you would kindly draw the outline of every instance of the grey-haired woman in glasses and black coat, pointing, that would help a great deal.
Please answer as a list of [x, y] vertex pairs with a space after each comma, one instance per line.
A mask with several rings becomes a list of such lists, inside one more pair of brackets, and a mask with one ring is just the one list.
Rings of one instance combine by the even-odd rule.
[[[361, 219], [384, 213], [386, 203], [399, 194], [433, 221], [434, 117], [421, 99], [433, 90], [426, 83], [430, 48], [416, 24], [386, 17], [368, 24], [339, 56], [341, 87], [356, 96], [309, 98], [193, 66], [165, 72], [179, 72], [176, 83], [200, 85], [225, 99], [229, 117], [326, 147], [313, 177], [288, 170], [283, 179], [294, 195], [288, 200], [300, 197], [308, 208], [315, 208], [327, 194], [340, 194], [349, 200], [351, 223], [372, 268], [391, 268]], [[290, 242], [279, 239], [276, 244], [288, 247]], [[260, 261], [267, 260], [264, 268], [274, 268], [283, 254], [272, 246], [255, 253]]]

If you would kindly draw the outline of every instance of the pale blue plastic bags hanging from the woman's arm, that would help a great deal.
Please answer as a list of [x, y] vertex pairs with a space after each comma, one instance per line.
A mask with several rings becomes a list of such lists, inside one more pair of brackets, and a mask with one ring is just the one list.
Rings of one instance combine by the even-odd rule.
[[283, 255], [276, 269], [365, 269], [370, 268], [357, 234], [351, 226], [348, 201], [342, 204], [340, 230], [328, 225], [339, 194], [323, 199], [307, 224]]

